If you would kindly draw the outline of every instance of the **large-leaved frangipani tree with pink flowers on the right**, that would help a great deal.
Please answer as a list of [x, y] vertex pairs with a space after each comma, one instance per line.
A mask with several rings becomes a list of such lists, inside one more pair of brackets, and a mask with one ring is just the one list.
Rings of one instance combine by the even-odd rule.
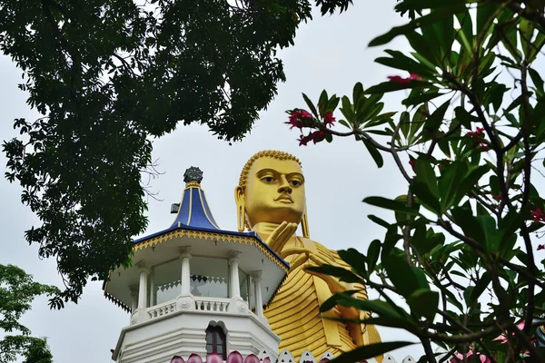
[[[425, 350], [419, 362], [545, 361], [544, 6], [401, 0], [396, 10], [411, 20], [370, 44], [410, 44], [376, 59], [395, 70], [390, 80], [342, 97], [323, 91], [316, 103], [303, 94], [306, 105], [288, 111], [300, 144], [354, 137], [379, 168], [391, 157], [406, 182], [404, 195], [365, 198], [391, 219], [369, 216], [385, 234], [365, 253], [339, 251], [351, 270], [312, 270], [376, 289], [381, 299], [339, 293], [321, 309], [367, 310], [362, 323], [406, 330]], [[391, 112], [381, 97], [398, 91]]]

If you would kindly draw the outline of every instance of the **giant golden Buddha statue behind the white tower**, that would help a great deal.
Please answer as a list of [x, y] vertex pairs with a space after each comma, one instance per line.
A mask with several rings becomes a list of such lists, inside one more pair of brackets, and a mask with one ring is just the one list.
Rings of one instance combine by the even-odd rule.
[[[322, 264], [348, 267], [335, 250], [310, 240], [301, 162], [287, 152], [263, 151], [243, 167], [234, 190], [238, 230], [249, 228], [275, 250], [291, 269], [276, 297], [265, 309], [272, 331], [293, 357], [310, 350], [316, 358], [330, 351], [334, 356], [353, 348], [381, 341], [374, 326], [343, 323], [326, 318], [362, 319], [364, 312], [337, 306], [320, 313], [320, 305], [335, 292], [361, 288], [305, 270]], [[302, 237], [295, 234], [302, 226]], [[382, 357], [377, 360], [381, 362]]]

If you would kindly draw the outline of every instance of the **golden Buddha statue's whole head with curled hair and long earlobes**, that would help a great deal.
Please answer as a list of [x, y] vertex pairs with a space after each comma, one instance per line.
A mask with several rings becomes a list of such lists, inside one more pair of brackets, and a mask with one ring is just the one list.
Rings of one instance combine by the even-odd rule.
[[239, 231], [261, 222], [302, 222], [308, 237], [304, 177], [292, 154], [266, 150], [253, 155], [243, 167], [234, 199]]

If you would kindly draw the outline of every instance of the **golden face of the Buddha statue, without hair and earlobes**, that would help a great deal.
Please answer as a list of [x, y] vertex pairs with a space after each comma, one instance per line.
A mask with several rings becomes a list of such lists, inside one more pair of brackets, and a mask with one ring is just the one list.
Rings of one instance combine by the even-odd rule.
[[260, 222], [299, 223], [305, 209], [304, 178], [299, 162], [263, 156], [253, 162], [243, 197], [251, 226]]

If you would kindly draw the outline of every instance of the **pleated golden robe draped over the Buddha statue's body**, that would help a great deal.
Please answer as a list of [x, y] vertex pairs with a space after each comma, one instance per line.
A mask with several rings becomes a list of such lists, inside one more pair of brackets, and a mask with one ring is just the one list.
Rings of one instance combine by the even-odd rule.
[[[332, 264], [348, 266], [336, 251], [312, 240], [291, 240], [283, 250], [293, 247], [304, 247]], [[285, 260], [292, 262], [298, 256], [291, 255]], [[304, 264], [289, 271], [288, 278], [264, 311], [272, 331], [282, 338], [279, 346], [281, 351], [284, 348], [289, 349], [293, 357], [298, 358], [303, 351], [310, 350], [315, 358], [320, 359], [328, 350], [338, 357], [353, 348], [381, 341], [374, 326], [323, 319], [341, 318], [341, 311], [335, 307], [320, 313], [320, 305], [332, 296], [331, 289], [324, 280], [303, 269]], [[367, 292], [363, 290], [358, 298], [367, 299]], [[377, 360], [381, 362], [382, 357], [377, 357]]]

